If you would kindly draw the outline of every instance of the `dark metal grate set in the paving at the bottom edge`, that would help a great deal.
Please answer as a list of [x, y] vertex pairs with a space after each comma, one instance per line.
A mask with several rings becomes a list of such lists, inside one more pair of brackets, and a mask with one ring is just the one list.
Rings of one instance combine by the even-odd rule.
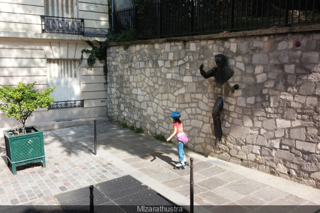
[[[165, 209], [165, 212], [178, 212], [172, 211], [172, 207], [180, 208], [130, 175], [94, 185], [93, 196], [95, 213], [143, 212], [142, 208], [144, 207], [158, 207]], [[66, 213], [89, 212], [89, 186], [65, 191], [64, 193], [54, 195], [54, 198]], [[183, 209], [183, 212], [187, 211]]]

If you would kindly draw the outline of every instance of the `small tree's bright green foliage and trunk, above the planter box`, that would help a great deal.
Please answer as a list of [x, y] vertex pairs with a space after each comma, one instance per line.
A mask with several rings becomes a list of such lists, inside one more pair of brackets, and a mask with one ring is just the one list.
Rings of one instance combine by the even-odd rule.
[[43, 92], [35, 90], [33, 83], [18, 83], [17, 87], [0, 85], [0, 110], [8, 118], [13, 117], [17, 121], [19, 134], [19, 123], [23, 124], [22, 133], [26, 133], [26, 120], [32, 116], [37, 108], [49, 108], [54, 98], [50, 97], [55, 87], [47, 88]]

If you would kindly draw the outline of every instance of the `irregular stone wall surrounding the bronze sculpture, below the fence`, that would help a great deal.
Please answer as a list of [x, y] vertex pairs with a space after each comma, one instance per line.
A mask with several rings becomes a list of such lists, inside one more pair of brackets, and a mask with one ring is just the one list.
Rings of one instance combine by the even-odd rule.
[[[320, 188], [320, 33], [259, 32], [110, 46], [109, 117], [168, 137], [179, 111], [189, 149]], [[231, 96], [199, 73], [219, 53], [234, 70], [230, 86], [239, 84]], [[224, 135], [214, 150], [218, 96]]]

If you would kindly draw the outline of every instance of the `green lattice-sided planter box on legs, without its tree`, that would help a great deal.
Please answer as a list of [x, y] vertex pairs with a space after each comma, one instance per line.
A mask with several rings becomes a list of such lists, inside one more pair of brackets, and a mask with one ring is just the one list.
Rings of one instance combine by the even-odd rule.
[[14, 130], [3, 131], [5, 134], [8, 166], [12, 165], [12, 173], [16, 175], [16, 166], [42, 161], [46, 167], [43, 131], [36, 127], [27, 127], [27, 134], [11, 136]]

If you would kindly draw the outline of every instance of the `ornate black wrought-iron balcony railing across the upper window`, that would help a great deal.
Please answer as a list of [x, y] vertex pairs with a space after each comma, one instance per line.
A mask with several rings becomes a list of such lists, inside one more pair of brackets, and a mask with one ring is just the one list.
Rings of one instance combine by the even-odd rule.
[[42, 33], [65, 33], [83, 35], [85, 22], [83, 18], [65, 18], [41, 16]]

